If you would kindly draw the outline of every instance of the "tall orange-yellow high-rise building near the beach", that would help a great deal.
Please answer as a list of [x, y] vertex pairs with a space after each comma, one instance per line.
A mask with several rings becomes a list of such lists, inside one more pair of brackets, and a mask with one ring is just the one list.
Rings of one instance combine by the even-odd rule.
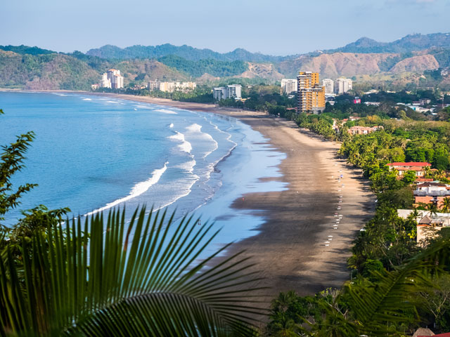
[[319, 86], [319, 73], [299, 72], [297, 76], [297, 112], [319, 114], [325, 110], [325, 87]]

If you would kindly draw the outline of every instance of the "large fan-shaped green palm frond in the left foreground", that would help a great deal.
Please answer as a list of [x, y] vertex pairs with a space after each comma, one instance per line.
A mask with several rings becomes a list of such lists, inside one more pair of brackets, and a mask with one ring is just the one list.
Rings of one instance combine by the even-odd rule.
[[[205, 258], [217, 235], [191, 218], [136, 209], [50, 224], [0, 257], [1, 336], [253, 336], [255, 272], [236, 253]], [[198, 262], [198, 260], [200, 262]], [[250, 293], [249, 293], [250, 292]], [[252, 295], [253, 293], [253, 295]]]

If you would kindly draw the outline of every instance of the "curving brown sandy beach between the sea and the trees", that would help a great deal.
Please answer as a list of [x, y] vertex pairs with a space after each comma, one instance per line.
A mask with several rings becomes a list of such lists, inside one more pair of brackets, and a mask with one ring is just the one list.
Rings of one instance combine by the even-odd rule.
[[[347, 258], [351, 256], [352, 241], [373, 216], [375, 195], [368, 180], [361, 178], [361, 171], [337, 157], [338, 143], [262, 112], [115, 93], [34, 92], [109, 96], [223, 114], [243, 121], [261, 133], [275, 150], [285, 153], [286, 158], [278, 165], [281, 177], [269, 180], [286, 183], [287, 188], [252, 192], [233, 201], [236, 211], [248, 210], [257, 215], [264, 211], [265, 221], [255, 228], [258, 234], [233, 244], [227, 255], [244, 250], [241, 257], [252, 256], [252, 263], [257, 263], [255, 270], [262, 271], [264, 277], [257, 286], [269, 287], [262, 295], [271, 298], [289, 290], [302, 296], [313, 295], [328, 287], [340, 287], [349, 279]], [[344, 178], [339, 182], [340, 174]], [[342, 209], [337, 210], [338, 206]], [[342, 220], [334, 229], [340, 216]]]

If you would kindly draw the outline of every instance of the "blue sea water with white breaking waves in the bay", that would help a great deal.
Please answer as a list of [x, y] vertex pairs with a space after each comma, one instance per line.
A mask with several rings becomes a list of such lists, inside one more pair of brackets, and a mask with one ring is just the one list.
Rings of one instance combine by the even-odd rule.
[[[68, 206], [73, 215], [126, 205], [195, 211], [223, 227], [215, 244], [256, 234], [262, 216], [231, 209], [248, 192], [281, 190], [285, 154], [237, 119], [129, 100], [63, 93], [0, 92], [0, 144], [34, 131], [15, 186], [37, 183], [20, 209]], [[264, 210], [262, 210], [264, 211]], [[261, 213], [261, 212], [258, 212]]]

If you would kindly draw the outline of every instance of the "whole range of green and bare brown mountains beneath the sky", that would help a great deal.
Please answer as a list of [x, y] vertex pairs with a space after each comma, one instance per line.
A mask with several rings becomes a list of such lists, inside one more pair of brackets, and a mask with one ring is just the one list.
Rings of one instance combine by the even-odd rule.
[[[367, 86], [436, 87], [450, 90], [450, 34], [413, 34], [393, 42], [361, 38], [342, 48], [272, 56], [238, 48], [229, 53], [191, 46], [103, 46], [87, 53], [58, 53], [39, 47], [0, 46], [0, 87], [87, 90], [110, 68], [125, 84], [167, 81], [277, 81], [299, 70], [321, 78], [352, 77]], [[441, 71], [442, 70], [442, 71]]]

